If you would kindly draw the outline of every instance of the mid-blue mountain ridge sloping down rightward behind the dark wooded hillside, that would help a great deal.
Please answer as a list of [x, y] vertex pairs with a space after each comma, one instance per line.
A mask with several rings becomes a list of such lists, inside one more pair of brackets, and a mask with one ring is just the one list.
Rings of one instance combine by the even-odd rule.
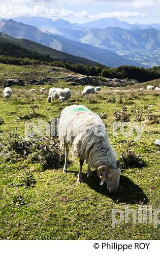
[[[68, 23], [66, 22], [66, 24]], [[59, 34], [53, 34], [51, 32], [38, 29], [34, 26], [18, 23], [13, 20], [2, 20], [0, 22], [0, 32], [16, 38], [26, 38], [58, 51], [89, 59], [93, 62], [111, 67], [119, 65], [141, 65], [140, 63], [133, 60], [128, 60], [127, 58], [120, 56], [113, 51], [98, 48], [87, 43], [73, 41]]]

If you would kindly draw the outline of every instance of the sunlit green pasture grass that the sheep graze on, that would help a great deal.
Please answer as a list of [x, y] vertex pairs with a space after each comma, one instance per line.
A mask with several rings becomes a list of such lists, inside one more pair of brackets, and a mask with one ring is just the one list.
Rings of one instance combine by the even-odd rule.
[[[21, 72], [28, 72], [27, 76], [37, 78], [46, 75], [48, 67], [35, 66], [19, 67], [0, 65], [0, 79], [3, 74], [8, 78], [21, 77]], [[65, 72], [65, 73], [64, 73]], [[66, 75], [67, 71], [58, 69], [57, 76]], [[55, 75], [55, 74], [54, 74]], [[32, 78], [31, 78], [32, 79]], [[114, 112], [122, 109], [119, 103], [120, 95], [104, 89], [93, 97], [95, 103], [82, 98], [83, 86], [76, 89], [61, 80], [53, 86], [69, 87], [72, 90], [70, 104], [84, 104], [95, 113], [104, 112], [104, 119], [110, 141], [118, 154], [128, 148], [140, 153], [146, 162], [143, 168], [123, 169], [120, 179], [119, 191], [110, 195], [106, 185], [100, 186], [100, 180], [93, 170], [93, 177], [87, 178], [87, 166], [83, 168], [83, 183], [78, 184], [78, 159], [69, 164], [69, 172], [64, 175], [63, 169], [43, 170], [40, 163], [33, 164], [30, 158], [6, 160], [6, 155], [0, 154], [0, 239], [160, 239], [160, 229], [153, 224], [117, 224], [112, 228], [111, 211], [121, 209], [129, 204], [130, 209], [137, 211], [138, 204], [153, 205], [154, 209], [160, 207], [160, 148], [154, 141], [160, 138], [160, 124], [148, 121], [140, 140], [134, 141], [135, 132], [131, 137], [124, 137], [118, 130], [118, 136], [113, 136]], [[14, 86], [13, 96], [10, 100], [3, 100], [0, 89], [0, 116], [3, 123], [0, 125], [0, 143], [4, 143], [8, 133], [17, 130], [21, 135], [25, 132], [25, 122], [18, 121], [19, 116], [27, 115], [32, 105], [37, 105], [36, 112], [45, 116], [43, 121], [57, 117], [61, 110], [68, 105], [67, 102], [47, 103], [46, 94], [30, 94], [27, 89]], [[49, 89], [50, 86], [46, 85]], [[134, 90], [132, 97], [129, 91], [122, 92], [123, 104], [128, 108], [131, 122], [135, 122], [135, 113], [131, 110], [135, 106], [143, 107], [142, 120], [146, 119], [147, 105], [153, 105], [153, 113], [160, 120], [160, 93], [139, 92]], [[115, 96], [115, 103], [108, 103], [108, 98]], [[130, 96], [130, 97], [129, 97]], [[133, 102], [133, 104], [131, 103]], [[37, 119], [30, 122], [38, 123]], [[138, 123], [140, 126], [141, 123]], [[51, 139], [51, 138], [50, 138]], [[24, 173], [31, 172], [35, 178], [33, 186], [13, 186], [20, 184]]]

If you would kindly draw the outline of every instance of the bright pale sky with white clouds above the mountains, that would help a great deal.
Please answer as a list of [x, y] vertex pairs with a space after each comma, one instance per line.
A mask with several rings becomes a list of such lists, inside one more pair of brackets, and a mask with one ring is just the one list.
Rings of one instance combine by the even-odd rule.
[[107, 17], [129, 23], [160, 23], [160, 0], [0, 0], [0, 17], [20, 15], [59, 16], [72, 23]]

